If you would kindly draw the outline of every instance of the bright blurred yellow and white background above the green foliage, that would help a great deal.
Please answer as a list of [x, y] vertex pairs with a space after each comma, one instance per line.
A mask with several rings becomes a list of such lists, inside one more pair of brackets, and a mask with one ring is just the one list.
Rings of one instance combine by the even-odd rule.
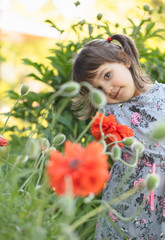
[[[11, 88], [18, 91], [24, 82], [34, 92], [49, 90], [46, 85], [26, 77], [30, 69], [22, 64], [21, 59], [46, 62], [55, 41], [70, 38], [72, 23], [78, 19], [95, 22], [98, 13], [110, 23], [117, 23], [120, 32], [128, 25], [128, 17], [135, 22], [144, 17], [137, 9], [142, 9], [145, 3], [155, 11], [160, 4], [165, 6], [165, 0], [0, 0], [0, 111], [6, 112], [10, 108], [7, 99], [4, 100], [5, 91]], [[154, 14], [154, 18], [158, 27], [165, 27], [162, 15]], [[66, 31], [61, 36], [45, 22], [47, 19], [60, 29], [68, 29], [68, 34]], [[156, 46], [160, 46], [160, 40], [152, 42], [152, 47]], [[163, 41], [161, 46], [165, 49]]]

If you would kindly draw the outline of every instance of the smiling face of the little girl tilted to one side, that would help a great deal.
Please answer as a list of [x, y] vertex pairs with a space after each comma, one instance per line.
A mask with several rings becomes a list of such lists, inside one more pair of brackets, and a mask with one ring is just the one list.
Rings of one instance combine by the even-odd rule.
[[105, 63], [97, 70], [97, 75], [90, 83], [101, 89], [107, 103], [121, 103], [141, 94], [134, 84], [129, 64]]

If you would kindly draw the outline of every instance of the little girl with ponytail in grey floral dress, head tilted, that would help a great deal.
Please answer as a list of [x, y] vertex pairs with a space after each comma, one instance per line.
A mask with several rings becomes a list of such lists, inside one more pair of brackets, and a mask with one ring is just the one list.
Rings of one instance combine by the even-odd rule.
[[[115, 161], [111, 178], [103, 191], [103, 201], [109, 202], [144, 182], [149, 173], [156, 172], [160, 176], [159, 187], [150, 194], [142, 211], [133, 220], [121, 221], [110, 210], [100, 213], [94, 239], [165, 239], [165, 145], [148, 139], [152, 125], [165, 119], [165, 85], [156, 81], [153, 84], [142, 71], [135, 43], [123, 34], [87, 43], [76, 56], [73, 80], [87, 81], [101, 89], [107, 97], [106, 114], [114, 114], [120, 124], [129, 125], [134, 130], [134, 137], [145, 146], [136, 168]], [[86, 119], [95, 111], [85, 87], [74, 99], [73, 106], [79, 119]], [[122, 149], [124, 161], [131, 162], [131, 156], [129, 148]], [[122, 217], [129, 218], [145, 195], [143, 189], [112, 207]]]

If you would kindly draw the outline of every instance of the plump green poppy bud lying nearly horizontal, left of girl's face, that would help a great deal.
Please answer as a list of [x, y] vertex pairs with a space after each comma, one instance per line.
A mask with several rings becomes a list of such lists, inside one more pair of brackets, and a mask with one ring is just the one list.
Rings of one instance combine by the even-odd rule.
[[77, 95], [80, 91], [80, 84], [77, 82], [67, 82], [64, 83], [61, 88], [61, 96], [64, 97], [73, 97]]

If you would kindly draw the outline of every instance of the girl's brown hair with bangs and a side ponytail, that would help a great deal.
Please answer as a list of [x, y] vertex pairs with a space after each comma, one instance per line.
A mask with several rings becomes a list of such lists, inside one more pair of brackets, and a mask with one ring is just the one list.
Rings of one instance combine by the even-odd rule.
[[[79, 83], [83, 81], [90, 83], [96, 76], [97, 69], [104, 63], [129, 63], [135, 86], [143, 91], [143, 82], [151, 83], [151, 80], [141, 69], [134, 41], [124, 34], [114, 34], [111, 38], [117, 40], [120, 45], [104, 39], [92, 40], [84, 45], [73, 64], [73, 80]], [[79, 119], [87, 119], [95, 111], [85, 87], [73, 99], [72, 105]]]

